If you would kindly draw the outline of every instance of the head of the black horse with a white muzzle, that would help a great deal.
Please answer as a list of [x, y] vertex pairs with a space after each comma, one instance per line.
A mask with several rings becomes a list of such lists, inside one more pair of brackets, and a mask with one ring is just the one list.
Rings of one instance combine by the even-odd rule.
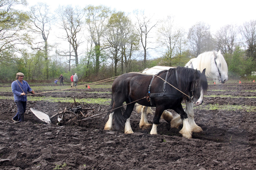
[[204, 69], [202, 73], [200, 73], [200, 71], [195, 72], [195, 80], [190, 87], [190, 95], [193, 96], [192, 102], [195, 105], [203, 103], [204, 94], [206, 94], [208, 88], [205, 70], [206, 69]]

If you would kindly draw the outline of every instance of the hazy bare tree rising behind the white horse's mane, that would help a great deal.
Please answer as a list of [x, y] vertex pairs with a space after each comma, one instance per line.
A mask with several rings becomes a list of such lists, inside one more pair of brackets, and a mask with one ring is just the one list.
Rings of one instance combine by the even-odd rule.
[[197, 57], [204, 51], [209, 51], [211, 41], [210, 26], [204, 22], [198, 22], [193, 25], [188, 32], [188, 42], [191, 54]]

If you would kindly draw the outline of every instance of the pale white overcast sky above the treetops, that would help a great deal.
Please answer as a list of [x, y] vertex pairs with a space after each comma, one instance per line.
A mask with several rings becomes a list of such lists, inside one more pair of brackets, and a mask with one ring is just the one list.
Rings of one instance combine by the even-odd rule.
[[175, 21], [186, 31], [198, 21], [204, 21], [211, 26], [211, 31], [226, 25], [242, 25], [245, 21], [256, 20], [256, 0], [27, 0], [29, 6], [43, 2], [54, 11], [59, 5], [84, 7], [86, 5], [105, 5], [132, 13], [133, 10], [144, 10], [146, 14], [159, 19], [175, 16]]

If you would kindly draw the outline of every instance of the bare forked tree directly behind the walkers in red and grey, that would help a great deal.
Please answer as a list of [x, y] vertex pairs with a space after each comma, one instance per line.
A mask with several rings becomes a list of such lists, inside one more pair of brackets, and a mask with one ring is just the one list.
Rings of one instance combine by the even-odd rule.
[[[82, 27], [83, 27], [83, 17], [84, 12], [80, 10], [80, 8], [76, 7], [75, 9], [72, 6], [62, 6], [57, 10], [58, 19], [60, 20], [60, 28], [64, 29], [66, 35], [61, 38], [68, 41], [74, 51], [76, 66], [78, 65], [78, 47], [83, 43], [81, 41], [82, 35]], [[62, 52], [63, 53], [63, 52]], [[71, 56], [71, 50], [68, 55], [63, 56]], [[70, 59], [71, 60], [71, 59]]]

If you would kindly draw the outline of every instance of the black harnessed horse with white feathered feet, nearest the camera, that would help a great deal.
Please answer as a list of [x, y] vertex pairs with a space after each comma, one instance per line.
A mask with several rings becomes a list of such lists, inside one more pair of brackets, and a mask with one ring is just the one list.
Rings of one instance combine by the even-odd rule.
[[[104, 129], [113, 129], [112, 121], [114, 118], [116, 129], [124, 127], [124, 133], [133, 133], [130, 126], [130, 115], [135, 102], [137, 102], [143, 106], [156, 107], [150, 134], [157, 134], [156, 127], [163, 111], [173, 109], [180, 114], [183, 122], [180, 133], [183, 137], [192, 138], [188, 115], [183, 110], [181, 102], [187, 96], [187, 100], [190, 98], [193, 102], [202, 104], [200, 101], [201, 90], [206, 92], [207, 88], [205, 69], [200, 73], [191, 68], [170, 68], [159, 72], [155, 77], [140, 73], [122, 74], [116, 78], [112, 85], [109, 119]], [[149, 97], [144, 98], [147, 95]], [[125, 110], [122, 107], [124, 102], [127, 104]]]

